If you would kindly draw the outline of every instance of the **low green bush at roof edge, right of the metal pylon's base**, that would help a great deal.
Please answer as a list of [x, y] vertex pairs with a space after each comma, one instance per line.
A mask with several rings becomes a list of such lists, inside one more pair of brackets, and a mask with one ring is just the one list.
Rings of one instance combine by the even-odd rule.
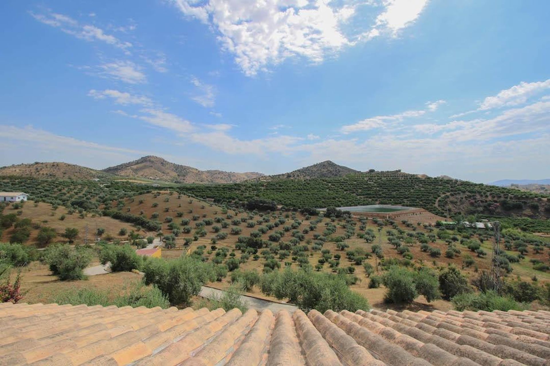
[[524, 310], [525, 308], [511, 297], [499, 296], [494, 291], [463, 293], [453, 297], [451, 302], [458, 311]]

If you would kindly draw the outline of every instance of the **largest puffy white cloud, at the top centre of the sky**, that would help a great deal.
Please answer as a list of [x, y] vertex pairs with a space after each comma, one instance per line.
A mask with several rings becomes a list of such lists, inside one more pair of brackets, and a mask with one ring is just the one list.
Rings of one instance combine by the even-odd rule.
[[246, 75], [265, 70], [289, 57], [320, 63], [327, 54], [352, 44], [340, 27], [355, 14], [353, 6], [326, 1], [173, 0], [185, 15], [219, 32], [223, 48], [235, 55]]

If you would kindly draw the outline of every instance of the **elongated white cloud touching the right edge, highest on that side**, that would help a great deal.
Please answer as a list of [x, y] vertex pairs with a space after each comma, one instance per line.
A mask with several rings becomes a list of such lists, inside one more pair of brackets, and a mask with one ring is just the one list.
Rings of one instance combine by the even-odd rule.
[[489, 110], [503, 106], [515, 106], [527, 102], [532, 95], [550, 88], [550, 79], [532, 83], [520, 82], [509, 89], [500, 91], [493, 97], [487, 97], [481, 103], [478, 110]]

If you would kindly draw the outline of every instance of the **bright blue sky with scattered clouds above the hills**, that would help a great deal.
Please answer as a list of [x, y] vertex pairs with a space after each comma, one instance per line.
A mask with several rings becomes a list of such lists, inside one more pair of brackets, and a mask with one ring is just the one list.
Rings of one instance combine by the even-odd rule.
[[0, 4], [0, 165], [550, 177], [546, 1]]

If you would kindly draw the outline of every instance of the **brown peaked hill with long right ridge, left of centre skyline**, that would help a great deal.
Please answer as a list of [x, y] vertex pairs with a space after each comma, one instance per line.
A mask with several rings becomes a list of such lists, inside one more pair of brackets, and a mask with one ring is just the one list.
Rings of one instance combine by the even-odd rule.
[[204, 170], [174, 164], [158, 156], [144, 156], [103, 172], [123, 177], [140, 177], [174, 183], [237, 183], [262, 176], [261, 173], [234, 173], [221, 170]]

